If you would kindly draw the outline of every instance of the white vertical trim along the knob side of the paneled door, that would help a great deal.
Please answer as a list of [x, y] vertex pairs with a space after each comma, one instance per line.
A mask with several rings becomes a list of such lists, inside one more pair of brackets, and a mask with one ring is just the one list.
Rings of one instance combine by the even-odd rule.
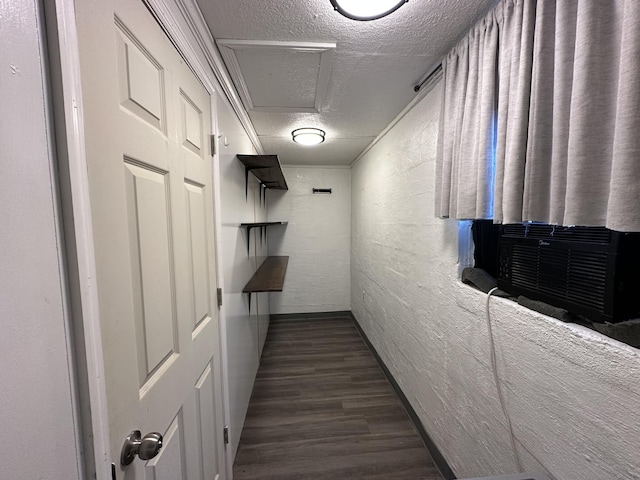
[[[85, 445], [93, 445], [97, 480], [111, 479], [111, 459], [109, 453], [109, 422], [107, 415], [107, 395], [104, 381], [104, 362], [102, 354], [102, 334], [98, 307], [98, 291], [95, 284], [96, 265], [93, 244], [93, 226], [91, 221], [91, 202], [89, 200], [89, 180], [84, 135], [84, 115], [82, 108], [82, 86], [80, 80], [80, 58], [74, 2], [55, 0], [55, 25], [57, 25], [62, 105], [64, 109], [64, 131], [69, 185], [71, 189], [71, 208], [73, 215], [73, 234], [78, 267], [78, 289], [84, 333], [86, 356], [78, 361], [85, 362], [87, 376], [77, 381], [84, 385], [89, 393], [91, 411], [91, 436]], [[72, 355], [69, 352], [69, 355]], [[84, 429], [85, 435], [87, 428]], [[86, 439], [85, 439], [86, 440]], [[93, 472], [86, 471], [91, 477]]]

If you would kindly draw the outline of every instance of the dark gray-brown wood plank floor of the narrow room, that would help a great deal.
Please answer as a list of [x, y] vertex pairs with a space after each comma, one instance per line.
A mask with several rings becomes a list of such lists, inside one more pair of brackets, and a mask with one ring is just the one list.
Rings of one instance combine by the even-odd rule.
[[352, 320], [274, 320], [235, 480], [442, 480]]

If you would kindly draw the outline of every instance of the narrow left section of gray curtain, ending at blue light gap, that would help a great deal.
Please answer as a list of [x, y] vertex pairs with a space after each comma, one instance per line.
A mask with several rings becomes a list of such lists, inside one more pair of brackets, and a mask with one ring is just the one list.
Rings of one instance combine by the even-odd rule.
[[442, 64], [444, 89], [436, 164], [436, 214], [492, 218], [498, 26], [493, 13]]

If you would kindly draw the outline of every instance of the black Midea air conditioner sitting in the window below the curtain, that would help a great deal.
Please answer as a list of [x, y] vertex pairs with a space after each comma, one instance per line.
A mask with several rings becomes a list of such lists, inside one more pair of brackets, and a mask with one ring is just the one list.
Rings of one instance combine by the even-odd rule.
[[640, 317], [640, 233], [503, 225], [498, 287], [595, 322]]

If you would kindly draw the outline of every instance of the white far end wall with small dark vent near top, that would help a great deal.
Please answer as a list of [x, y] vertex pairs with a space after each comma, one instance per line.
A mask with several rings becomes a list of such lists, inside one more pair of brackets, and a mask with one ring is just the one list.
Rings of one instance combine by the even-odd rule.
[[[351, 310], [351, 171], [283, 167], [288, 191], [268, 192], [269, 254], [289, 255], [282, 293], [270, 294], [271, 313]], [[312, 193], [331, 188], [331, 195]]]

